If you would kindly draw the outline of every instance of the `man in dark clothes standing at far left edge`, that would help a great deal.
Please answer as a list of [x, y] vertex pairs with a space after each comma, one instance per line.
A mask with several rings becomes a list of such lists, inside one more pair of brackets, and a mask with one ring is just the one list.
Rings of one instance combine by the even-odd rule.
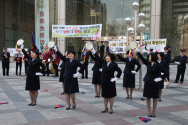
[[9, 76], [10, 53], [7, 52], [7, 48], [4, 48], [4, 52], [1, 54], [1, 57], [2, 57], [3, 76], [5, 76], [5, 69], [6, 69], [6, 75]]

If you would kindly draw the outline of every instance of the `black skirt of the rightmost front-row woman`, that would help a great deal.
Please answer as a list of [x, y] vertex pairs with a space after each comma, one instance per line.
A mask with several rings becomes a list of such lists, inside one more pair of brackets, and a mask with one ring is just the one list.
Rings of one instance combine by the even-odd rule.
[[159, 84], [144, 84], [144, 97], [159, 98]]

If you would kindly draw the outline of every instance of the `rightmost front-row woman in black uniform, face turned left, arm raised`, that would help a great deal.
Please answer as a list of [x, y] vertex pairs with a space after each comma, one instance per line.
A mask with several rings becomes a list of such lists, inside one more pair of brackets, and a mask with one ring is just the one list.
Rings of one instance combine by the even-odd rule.
[[[147, 72], [143, 79], [144, 81], [144, 92], [143, 96], [146, 97], [146, 104], [148, 108], [148, 117], [155, 117], [155, 109], [157, 107], [157, 98], [159, 97], [159, 82], [162, 81], [161, 72], [167, 74], [167, 71], [157, 63], [158, 57], [156, 53], [150, 53], [149, 60], [146, 60], [136, 50], [138, 57], [147, 66]], [[153, 98], [153, 111], [151, 114], [150, 110], [150, 99]]]

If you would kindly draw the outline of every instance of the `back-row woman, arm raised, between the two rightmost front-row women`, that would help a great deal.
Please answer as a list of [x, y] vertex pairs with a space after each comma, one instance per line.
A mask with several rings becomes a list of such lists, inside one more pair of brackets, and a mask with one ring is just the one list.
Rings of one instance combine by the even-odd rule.
[[[124, 78], [123, 78], [123, 87], [125, 87], [127, 97], [126, 99], [132, 99], [132, 93], [133, 89], [135, 88], [135, 73], [138, 72], [141, 65], [140, 63], [133, 58], [132, 53], [129, 54], [130, 51], [127, 51], [127, 58], [122, 58], [119, 54], [117, 57], [126, 63], [125, 69], [124, 69]], [[134, 71], [134, 67], [137, 65], [137, 69]], [[129, 96], [129, 89], [130, 88], [130, 96]]]

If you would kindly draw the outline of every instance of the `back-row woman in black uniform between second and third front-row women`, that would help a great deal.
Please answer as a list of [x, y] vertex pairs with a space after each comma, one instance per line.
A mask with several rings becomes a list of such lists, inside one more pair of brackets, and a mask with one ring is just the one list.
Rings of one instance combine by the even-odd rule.
[[[89, 52], [89, 55], [91, 58], [95, 61], [95, 64], [92, 68], [93, 70], [93, 78], [92, 78], [92, 84], [95, 86], [95, 98], [100, 98], [100, 92], [101, 92], [101, 72], [102, 72], [102, 64], [99, 63], [99, 61], [92, 55], [91, 52]], [[101, 57], [100, 51], [97, 51], [97, 55]], [[97, 85], [99, 86], [99, 93], [97, 89]]]

